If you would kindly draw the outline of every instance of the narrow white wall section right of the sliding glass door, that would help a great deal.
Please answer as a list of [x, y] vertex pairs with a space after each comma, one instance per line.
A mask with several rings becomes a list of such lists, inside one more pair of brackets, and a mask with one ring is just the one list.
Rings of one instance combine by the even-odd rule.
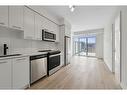
[[103, 40], [104, 33], [96, 34], [96, 57], [103, 59], [103, 48], [104, 48], [104, 40]]

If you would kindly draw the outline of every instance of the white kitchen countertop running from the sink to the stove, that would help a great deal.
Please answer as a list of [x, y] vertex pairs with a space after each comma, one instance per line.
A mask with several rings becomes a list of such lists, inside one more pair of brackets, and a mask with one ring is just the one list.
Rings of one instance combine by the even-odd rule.
[[33, 56], [33, 55], [41, 55], [41, 54], [47, 54], [47, 53], [48, 52], [29, 52], [29, 53], [23, 53], [23, 54], [19, 53], [21, 55], [18, 55], [18, 56], [8, 56], [8, 57], [0, 57], [0, 60], [2, 60], [2, 59], [19, 58], [19, 57], [25, 57], [25, 56]]

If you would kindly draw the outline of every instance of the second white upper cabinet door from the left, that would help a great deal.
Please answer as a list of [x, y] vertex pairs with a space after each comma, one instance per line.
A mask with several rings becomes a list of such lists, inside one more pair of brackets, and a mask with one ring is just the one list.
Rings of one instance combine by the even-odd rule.
[[9, 27], [23, 30], [23, 6], [9, 6]]

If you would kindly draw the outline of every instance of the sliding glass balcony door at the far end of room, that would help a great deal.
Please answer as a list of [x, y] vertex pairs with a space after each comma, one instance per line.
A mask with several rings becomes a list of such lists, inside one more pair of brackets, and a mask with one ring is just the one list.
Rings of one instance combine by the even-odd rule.
[[74, 38], [74, 55], [95, 56], [96, 36], [82, 36]]

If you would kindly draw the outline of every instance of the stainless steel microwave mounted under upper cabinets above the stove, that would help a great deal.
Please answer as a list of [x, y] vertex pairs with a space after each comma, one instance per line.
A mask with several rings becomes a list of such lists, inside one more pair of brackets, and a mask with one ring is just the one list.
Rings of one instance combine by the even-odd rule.
[[55, 42], [56, 40], [56, 34], [48, 32], [48, 30], [43, 29], [42, 30], [42, 40], [44, 41], [50, 41], [50, 42]]

